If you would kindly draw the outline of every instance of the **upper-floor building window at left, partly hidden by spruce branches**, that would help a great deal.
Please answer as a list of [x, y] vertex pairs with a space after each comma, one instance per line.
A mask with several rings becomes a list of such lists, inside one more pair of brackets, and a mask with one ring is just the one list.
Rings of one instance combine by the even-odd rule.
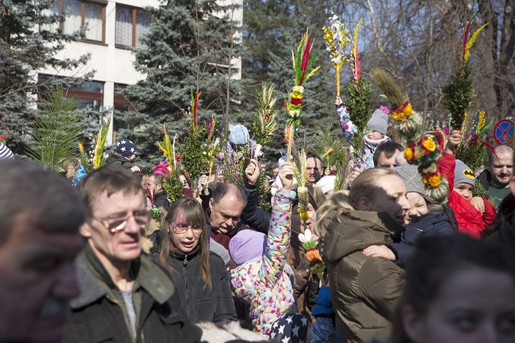
[[65, 34], [73, 34], [87, 27], [82, 39], [104, 42], [106, 36], [106, 5], [103, 0], [56, 0], [52, 12], [65, 12], [59, 27]]

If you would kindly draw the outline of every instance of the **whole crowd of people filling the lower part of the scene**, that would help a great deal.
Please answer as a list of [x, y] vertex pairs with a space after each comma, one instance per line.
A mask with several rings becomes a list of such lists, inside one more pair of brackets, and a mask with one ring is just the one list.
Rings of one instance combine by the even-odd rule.
[[[268, 174], [251, 158], [242, 185], [203, 175], [196, 188], [183, 171], [172, 202], [166, 165], [142, 171], [129, 139], [68, 178], [0, 146], [0, 342], [515, 342], [513, 148], [494, 147], [476, 176], [450, 132], [437, 204], [387, 114], [371, 116], [340, 190], [308, 154], [307, 220], [284, 159]], [[472, 195], [479, 182], [488, 197]]]

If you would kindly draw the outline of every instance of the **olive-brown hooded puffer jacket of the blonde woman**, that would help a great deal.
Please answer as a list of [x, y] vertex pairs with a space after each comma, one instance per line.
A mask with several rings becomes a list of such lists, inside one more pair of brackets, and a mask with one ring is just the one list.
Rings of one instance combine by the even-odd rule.
[[326, 224], [323, 259], [328, 263], [339, 342], [369, 342], [389, 335], [404, 270], [392, 261], [365, 257], [363, 249], [391, 243], [402, 225], [386, 213], [370, 211], [347, 211]]

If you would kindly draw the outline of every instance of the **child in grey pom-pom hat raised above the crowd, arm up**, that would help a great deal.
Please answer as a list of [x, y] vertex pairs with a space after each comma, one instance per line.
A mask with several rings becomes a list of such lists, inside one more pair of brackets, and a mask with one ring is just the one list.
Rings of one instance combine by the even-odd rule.
[[[341, 130], [349, 143], [352, 143], [352, 138], [358, 128], [350, 120], [349, 111], [341, 101], [340, 97], [336, 97], [334, 101], [336, 106], [336, 113], [340, 121]], [[376, 147], [385, 141], [389, 141], [386, 132], [388, 128], [388, 113], [389, 110], [385, 106], [380, 106], [372, 113], [367, 126], [367, 134], [363, 137], [363, 159], [362, 161], [354, 161], [354, 167], [361, 167], [361, 171], [369, 168], [374, 168], [374, 152]]]

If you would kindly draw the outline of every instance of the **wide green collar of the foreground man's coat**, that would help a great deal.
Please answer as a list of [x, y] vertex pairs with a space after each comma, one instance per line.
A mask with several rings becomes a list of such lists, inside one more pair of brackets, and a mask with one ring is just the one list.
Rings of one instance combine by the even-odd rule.
[[[117, 289], [111, 276], [104, 268], [89, 244], [86, 244], [75, 262], [80, 294], [70, 302], [72, 309], [79, 309], [95, 303], [110, 293], [110, 289]], [[130, 271], [134, 275], [134, 287], [141, 287], [163, 305], [175, 292], [172, 280], [158, 265], [146, 256], [139, 256], [131, 261]]]

